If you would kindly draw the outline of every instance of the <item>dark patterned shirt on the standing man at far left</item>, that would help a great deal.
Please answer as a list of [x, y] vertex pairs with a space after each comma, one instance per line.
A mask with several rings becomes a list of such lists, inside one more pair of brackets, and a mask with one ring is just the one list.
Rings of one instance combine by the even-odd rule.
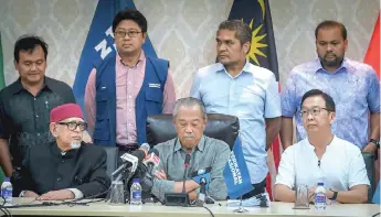
[[45, 77], [44, 87], [34, 97], [20, 78], [0, 91], [0, 138], [10, 140], [13, 166], [20, 166], [28, 148], [53, 141], [49, 131], [51, 110], [75, 104], [72, 88]]

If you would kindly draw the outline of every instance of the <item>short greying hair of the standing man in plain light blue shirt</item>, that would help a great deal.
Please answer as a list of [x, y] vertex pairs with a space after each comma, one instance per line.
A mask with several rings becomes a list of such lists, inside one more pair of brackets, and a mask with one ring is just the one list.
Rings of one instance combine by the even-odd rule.
[[235, 37], [240, 40], [241, 45], [246, 42], [252, 43], [252, 29], [241, 20], [226, 20], [219, 25], [220, 30], [235, 31]]

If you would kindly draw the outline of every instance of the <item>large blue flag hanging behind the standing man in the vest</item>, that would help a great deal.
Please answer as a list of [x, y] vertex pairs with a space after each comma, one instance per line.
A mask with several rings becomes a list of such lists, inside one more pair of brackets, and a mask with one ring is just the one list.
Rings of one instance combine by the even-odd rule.
[[[99, 0], [94, 18], [88, 30], [85, 45], [82, 50], [78, 68], [76, 72], [73, 91], [76, 102], [84, 110], [84, 96], [87, 78], [94, 64], [104, 59], [107, 55], [115, 55], [113, 20], [125, 8], [135, 9], [133, 0]], [[146, 37], [142, 45], [146, 56], [157, 57], [154, 46]]]

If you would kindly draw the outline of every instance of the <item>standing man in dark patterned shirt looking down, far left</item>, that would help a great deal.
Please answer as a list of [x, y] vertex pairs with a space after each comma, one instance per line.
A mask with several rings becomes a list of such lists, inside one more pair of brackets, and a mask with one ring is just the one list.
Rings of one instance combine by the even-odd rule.
[[[73, 102], [72, 88], [45, 76], [47, 44], [38, 36], [22, 36], [14, 44], [19, 79], [0, 91], [0, 166], [7, 176], [21, 165], [31, 145], [52, 141], [52, 108]], [[11, 161], [12, 156], [12, 161]]]

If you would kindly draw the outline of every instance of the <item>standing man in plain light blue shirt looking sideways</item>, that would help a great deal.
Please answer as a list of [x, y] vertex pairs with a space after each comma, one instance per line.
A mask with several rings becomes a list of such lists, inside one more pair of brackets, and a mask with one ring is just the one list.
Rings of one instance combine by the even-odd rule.
[[267, 149], [281, 129], [281, 98], [274, 74], [246, 59], [252, 31], [242, 21], [224, 21], [216, 32], [219, 63], [199, 69], [191, 96], [209, 113], [240, 119], [240, 139], [254, 189], [243, 198], [265, 192]]

